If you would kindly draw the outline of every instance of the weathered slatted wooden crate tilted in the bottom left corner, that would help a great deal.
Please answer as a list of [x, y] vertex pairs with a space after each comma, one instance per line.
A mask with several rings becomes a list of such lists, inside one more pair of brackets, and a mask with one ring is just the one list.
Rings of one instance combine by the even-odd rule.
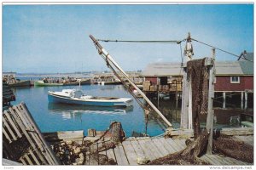
[[[24, 103], [3, 111], [2, 121], [3, 138], [6, 139], [3, 141], [3, 150], [15, 159], [13, 161], [20, 161], [24, 165], [61, 164]], [[18, 154], [12, 150], [21, 145], [26, 151]]]

